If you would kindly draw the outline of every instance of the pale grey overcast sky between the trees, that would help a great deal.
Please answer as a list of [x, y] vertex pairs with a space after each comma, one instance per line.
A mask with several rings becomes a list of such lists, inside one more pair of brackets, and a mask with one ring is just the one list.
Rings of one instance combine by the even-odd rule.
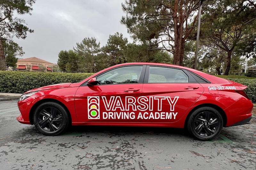
[[116, 32], [132, 41], [120, 23], [124, 16], [124, 0], [36, 0], [32, 15], [19, 15], [34, 33], [17, 39], [25, 54], [22, 58], [38, 57], [57, 63], [61, 50], [73, 49], [85, 37], [95, 37], [100, 46]]

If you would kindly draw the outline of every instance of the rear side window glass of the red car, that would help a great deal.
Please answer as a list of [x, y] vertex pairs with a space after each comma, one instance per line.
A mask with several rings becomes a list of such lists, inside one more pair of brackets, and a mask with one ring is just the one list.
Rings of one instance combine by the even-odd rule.
[[188, 83], [188, 76], [179, 69], [150, 66], [148, 83]]

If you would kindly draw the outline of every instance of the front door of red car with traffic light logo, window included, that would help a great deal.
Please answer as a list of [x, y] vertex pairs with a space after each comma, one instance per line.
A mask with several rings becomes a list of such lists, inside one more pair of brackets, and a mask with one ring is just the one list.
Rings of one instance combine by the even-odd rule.
[[146, 66], [128, 65], [96, 77], [97, 85], [80, 86], [75, 95], [78, 122], [140, 122], [137, 100], [141, 96]]

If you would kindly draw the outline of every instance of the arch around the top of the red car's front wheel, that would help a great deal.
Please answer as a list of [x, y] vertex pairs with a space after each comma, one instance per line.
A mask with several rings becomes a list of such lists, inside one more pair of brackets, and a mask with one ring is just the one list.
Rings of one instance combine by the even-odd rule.
[[66, 109], [67, 113], [68, 113], [68, 118], [69, 118], [69, 120], [70, 120], [69, 123], [70, 123], [70, 124], [72, 123], [72, 118], [71, 118], [70, 111], [68, 110], [68, 108], [67, 108], [62, 102], [60, 102], [59, 100], [55, 100], [55, 99], [43, 99], [43, 100], [37, 101], [37, 102], [33, 105], [33, 107], [30, 109], [30, 111], [29, 111], [29, 122], [30, 122], [31, 125], [34, 124], [33, 116], [34, 116], [34, 113], [35, 113], [36, 108], [37, 108], [40, 104], [45, 103], [45, 102], [48, 102], [48, 101], [56, 102], [56, 103], [60, 104], [61, 106], [63, 106], [63, 107]]

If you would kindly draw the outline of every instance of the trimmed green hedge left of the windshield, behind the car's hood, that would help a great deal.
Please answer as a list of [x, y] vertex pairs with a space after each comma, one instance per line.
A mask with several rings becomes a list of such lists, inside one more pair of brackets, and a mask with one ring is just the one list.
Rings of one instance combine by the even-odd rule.
[[24, 93], [46, 85], [80, 82], [92, 73], [0, 71], [0, 92]]

